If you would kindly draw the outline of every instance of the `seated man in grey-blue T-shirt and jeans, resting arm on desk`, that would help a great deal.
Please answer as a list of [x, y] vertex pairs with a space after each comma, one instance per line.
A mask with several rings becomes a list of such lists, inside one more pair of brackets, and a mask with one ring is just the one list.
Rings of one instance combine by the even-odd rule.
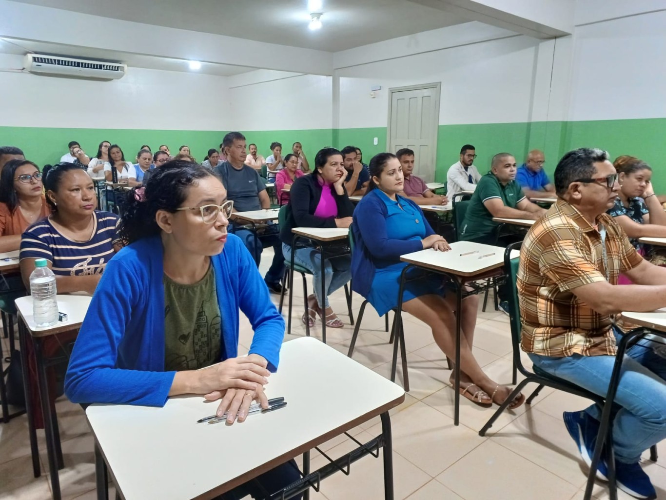
[[[234, 201], [234, 212], [270, 209], [270, 200], [266, 194], [264, 182], [256, 170], [245, 165], [247, 156], [245, 136], [240, 132], [229, 132], [222, 139], [222, 151], [226, 155], [226, 161], [219, 163], [212, 169], [212, 172], [222, 179], [227, 199]], [[270, 268], [264, 276], [264, 281], [266, 281], [268, 289], [281, 293], [280, 280], [284, 274], [284, 257], [277, 225], [269, 224], [266, 232], [270, 231], [270, 233], [258, 238], [252, 231], [241, 229], [240, 225], [234, 221], [233, 215], [231, 219], [230, 232], [242, 239], [253, 259], [256, 259], [256, 255], [261, 255], [263, 245], [273, 247], [275, 254]], [[259, 259], [256, 259], [256, 265], [259, 267]]]

